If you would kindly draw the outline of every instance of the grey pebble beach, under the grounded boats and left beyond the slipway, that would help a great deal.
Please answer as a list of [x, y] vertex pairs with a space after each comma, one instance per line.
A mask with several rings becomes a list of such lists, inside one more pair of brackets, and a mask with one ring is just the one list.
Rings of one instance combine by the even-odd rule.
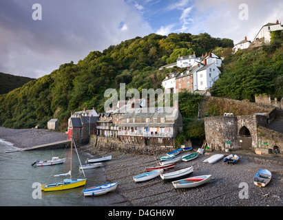
[[[0, 139], [12, 142], [16, 147], [26, 148], [66, 140], [67, 135], [42, 129], [15, 130], [0, 127]], [[175, 189], [171, 181], [164, 182], [159, 176], [141, 183], [133, 179], [135, 175], [145, 173], [145, 168], [157, 166], [156, 160], [159, 162], [159, 157], [163, 155], [98, 151], [90, 144], [82, 146], [80, 150], [90, 153], [90, 158], [112, 155], [112, 160], [103, 164], [107, 179], [105, 184], [118, 181], [118, 187], [111, 193], [118, 193], [123, 199], [107, 206], [283, 206], [282, 157], [255, 156], [254, 153], [235, 151], [233, 153], [240, 157], [235, 165], [222, 160], [216, 164], [207, 164], [203, 160], [214, 153], [228, 153], [206, 152], [189, 162], [177, 162], [174, 170], [193, 166], [193, 173], [189, 177], [212, 175], [211, 181], [196, 188]], [[183, 151], [180, 156], [197, 150]], [[253, 184], [253, 176], [261, 169], [268, 169], [272, 173], [270, 183], [262, 188]], [[165, 173], [174, 170], [165, 170]], [[241, 198], [241, 195], [246, 197]]]

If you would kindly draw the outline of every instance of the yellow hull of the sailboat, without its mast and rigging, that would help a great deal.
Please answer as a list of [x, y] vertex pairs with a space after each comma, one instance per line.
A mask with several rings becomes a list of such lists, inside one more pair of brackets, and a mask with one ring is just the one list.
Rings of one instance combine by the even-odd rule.
[[[64, 179], [64, 181], [65, 181], [65, 179]], [[44, 191], [44, 192], [58, 191], [58, 190], [69, 190], [69, 189], [72, 189], [72, 188], [84, 186], [87, 179], [72, 179], [72, 181], [70, 181], [69, 184], [64, 184], [64, 181], [58, 182], [56, 184], [42, 185], [41, 190]]]

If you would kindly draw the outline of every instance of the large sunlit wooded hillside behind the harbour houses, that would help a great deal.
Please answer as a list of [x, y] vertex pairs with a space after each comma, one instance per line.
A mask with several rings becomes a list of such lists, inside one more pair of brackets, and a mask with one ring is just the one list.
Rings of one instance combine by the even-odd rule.
[[51, 74], [1, 95], [0, 126], [46, 127], [48, 120], [58, 118], [64, 130], [72, 111], [81, 111], [83, 107], [104, 111], [106, 89], [118, 90], [120, 83], [126, 83], [126, 89], [139, 91], [160, 88], [165, 74], [171, 70], [158, 68], [176, 62], [178, 54], [196, 52], [201, 56], [214, 48], [232, 46], [233, 41], [216, 39], [207, 33], [149, 34], [111, 45], [103, 52], [90, 52], [77, 64], [65, 63]]

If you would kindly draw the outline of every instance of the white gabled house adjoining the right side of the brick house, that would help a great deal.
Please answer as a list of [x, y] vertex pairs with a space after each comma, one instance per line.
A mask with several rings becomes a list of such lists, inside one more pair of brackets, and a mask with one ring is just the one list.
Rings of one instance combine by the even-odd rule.
[[193, 91], [206, 91], [211, 88], [220, 73], [215, 63], [202, 66], [193, 73]]

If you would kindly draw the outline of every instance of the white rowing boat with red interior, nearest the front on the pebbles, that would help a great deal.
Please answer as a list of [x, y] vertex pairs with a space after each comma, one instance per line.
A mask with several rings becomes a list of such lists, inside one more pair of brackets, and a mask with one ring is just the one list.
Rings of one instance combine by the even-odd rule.
[[175, 188], [192, 188], [205, 184], [208, 181], [210, 181], [210, 179], [211, 179], [211, 175], [202, 175], [198, 177], [190, 177], [187, 179], [172, 181], [172, 184]]

